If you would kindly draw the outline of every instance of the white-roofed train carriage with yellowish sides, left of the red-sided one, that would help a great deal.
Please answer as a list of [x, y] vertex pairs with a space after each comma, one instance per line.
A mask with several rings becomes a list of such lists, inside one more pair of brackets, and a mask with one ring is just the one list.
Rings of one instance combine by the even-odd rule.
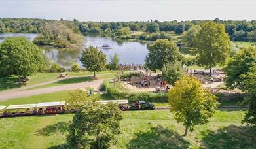
[[35, 106], [37, 104], [9, 105], [5, 110], [7, 116], [22, 116], [36, 114]]

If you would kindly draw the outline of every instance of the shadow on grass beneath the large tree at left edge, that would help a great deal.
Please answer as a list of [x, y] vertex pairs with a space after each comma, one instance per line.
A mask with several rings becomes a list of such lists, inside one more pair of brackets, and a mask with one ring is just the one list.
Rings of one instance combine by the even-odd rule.
[[14, 76], [0, 78], [0, 91], [12, 88], [20, 88], [20, 84], [18, 84], [18, 78]]

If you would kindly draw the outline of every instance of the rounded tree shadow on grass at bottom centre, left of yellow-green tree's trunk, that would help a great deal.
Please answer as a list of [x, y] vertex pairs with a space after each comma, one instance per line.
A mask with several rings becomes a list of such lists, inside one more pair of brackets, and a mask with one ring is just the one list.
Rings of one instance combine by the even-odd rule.
[[174, 131], [158, 125], [145, 133], [136, 133], [128, 148], [189, 148], [189, 142]]

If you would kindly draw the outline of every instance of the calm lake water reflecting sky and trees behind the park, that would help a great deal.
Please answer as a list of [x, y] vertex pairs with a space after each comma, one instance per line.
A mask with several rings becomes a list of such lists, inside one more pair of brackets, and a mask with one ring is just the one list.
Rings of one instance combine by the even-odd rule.
[[[0, 42], [3, 42], [7, 37], [17, 37], [23, 36], [29, 39], [29, 41], [33, 41], [33, 39], [37, 36], [36, 34], [22, 34], [22, 33], [4, 33], [0, 34]], [[143, 64], [145, 61], [145, 57], [149, 52], [147, 50], [147, 44], [142, 42], [132, 42], [125, 40], [113, 40], [100, 36], [85, 36], [86, 40], [84, 47], [88, 46], [102, 46], [103, 44], [109, 44], [112, 49], [102, 50], [105, 54], [107, 54], [107, 61], [109, 61], [109, 56], [113, 56], [115, 52], [119, 55], [120, 63], [133, 63], [133, 64]], [[54, 63], [58, 63], [62, 67], [69, 68], [73, 65], [73, 63], [82, 64], [79, 61], [79, 56], [83, 49], [80, 50], [60, 50], [52, 47], [41, 47], [46, 56], [54, 61]]]

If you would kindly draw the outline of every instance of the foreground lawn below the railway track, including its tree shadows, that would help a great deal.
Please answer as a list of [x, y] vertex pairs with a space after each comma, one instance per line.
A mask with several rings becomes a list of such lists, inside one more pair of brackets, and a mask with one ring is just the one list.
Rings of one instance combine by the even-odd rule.
[[[0, 119], [1, 148], [67, 148], [74, 114]], [[168, 110], [122, 112], [121, 134], [111, 148], [255, 148], [256, 127], [241, 125], [243, 111], [217, 111], [187, 137]]]

